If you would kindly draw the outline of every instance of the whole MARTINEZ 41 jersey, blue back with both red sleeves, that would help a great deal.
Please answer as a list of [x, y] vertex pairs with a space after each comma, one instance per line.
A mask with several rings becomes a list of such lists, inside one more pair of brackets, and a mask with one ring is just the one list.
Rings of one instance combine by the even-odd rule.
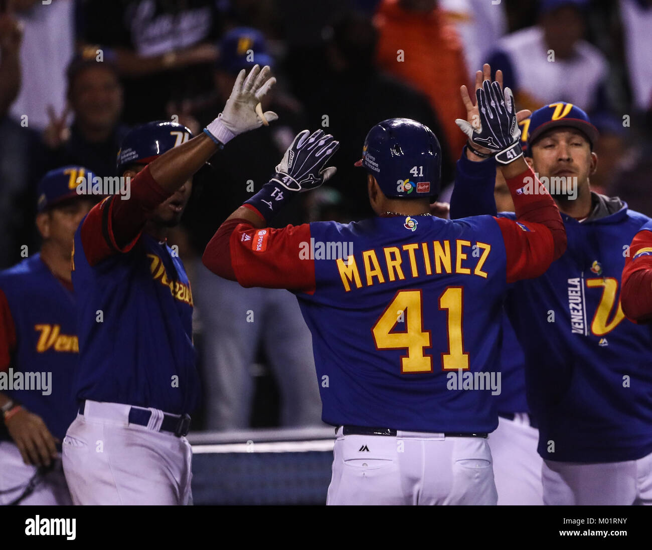
[[233, 223], [222, 226], [230, 252], [222, 253], [220, 228], [204, 262], [243, 286], [295, 292], [312, 333], [325, 422], [436, 433], [496, 428], [505, 289], [550, 264], [547, 227], [492, 216], [284, 229]]

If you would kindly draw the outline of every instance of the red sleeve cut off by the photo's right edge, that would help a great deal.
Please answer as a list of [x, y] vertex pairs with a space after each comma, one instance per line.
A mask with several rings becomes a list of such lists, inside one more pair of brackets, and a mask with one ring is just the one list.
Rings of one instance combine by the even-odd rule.
[[625, 258], [620, 304], [634, 323], [652, 321], [652, 232], [639, 231]]

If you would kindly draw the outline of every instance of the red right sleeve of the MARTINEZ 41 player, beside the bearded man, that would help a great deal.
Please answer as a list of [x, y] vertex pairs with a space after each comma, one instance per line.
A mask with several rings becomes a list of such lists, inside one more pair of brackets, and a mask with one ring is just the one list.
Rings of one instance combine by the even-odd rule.
[[545, 273], [566, 250], [566, 230], [559, 209], [534, 172], [528, 168], [507, 180], [516, 221], [496, 218], [507, 254], [507, 282]]

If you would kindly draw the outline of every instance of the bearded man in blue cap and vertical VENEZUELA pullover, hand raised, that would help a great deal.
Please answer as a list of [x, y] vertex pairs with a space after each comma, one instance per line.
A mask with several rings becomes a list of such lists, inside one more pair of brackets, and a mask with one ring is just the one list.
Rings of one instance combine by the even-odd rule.
[[[598, 132], [582, 109], [550, 103], [532, 113], [523, 132], [527, 162], [548, 183], [568, 233], [566, 253], [541, 277], [515, 283], [505, 304], [524, 350], [544, 504], [650, 504], [652, 333], [625, 321], [619, 301], [627, 247], [649, 219], [617, 197], [591, 191]], [[472, 130], [467, 135], [481, 156], [491, 153]], [[458, 167], [452, 217], [495, 213], [494, 160], [463, 154]], [[464, 199], [471, 190], [475, 195]], [[503, 335], [505, 346], [517, 345], [508, 338]], [[518, 375], [511, 379], [513, 391]], [[511, 433], [512, 467], [527, 462], [530, 435], [518, 435], [527, 424], [532, 427], [527, 420], [501, 419]]]

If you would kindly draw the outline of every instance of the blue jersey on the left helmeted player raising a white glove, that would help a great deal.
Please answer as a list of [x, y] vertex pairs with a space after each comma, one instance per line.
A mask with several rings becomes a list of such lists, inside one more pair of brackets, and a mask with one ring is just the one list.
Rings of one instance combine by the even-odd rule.
[[166, 242], [146, 233], [120, 249], [108, 227], [111, 205], [104, 200], [95, 206], [75, 234], [72, 282], [80, 338], [75, 394], [79, 400], [191, 413], [200, 381], [183, 263]]

